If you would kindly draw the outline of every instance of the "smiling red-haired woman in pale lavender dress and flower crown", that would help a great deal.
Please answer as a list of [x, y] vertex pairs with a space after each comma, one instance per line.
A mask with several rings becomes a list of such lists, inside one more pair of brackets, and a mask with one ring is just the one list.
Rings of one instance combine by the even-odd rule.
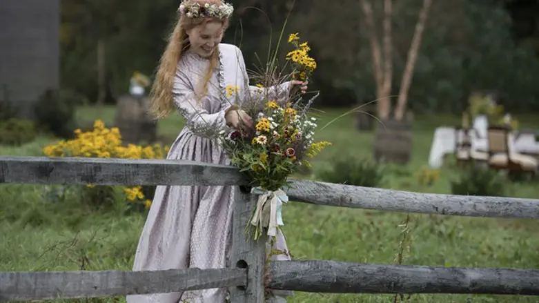
[[[253, 120], [234, 105], [227, 86], [239, 86], [240, 97], [272, 95], [286, 100], [292, 86], [306, 83], [289, 81], [271, 88], [248, 86], [242, 52], [221, 43], [233, 7], [220, 0], [185, 0], [161, 58], [153, 86], [153, 110], [165, 117], [173, 107], [186, 120], [167, 159], [212, 164], [230, 164], [211, 139], [220, 130], [244, 129]], [[272, 98], [273, 98], [272, 97]], [[233, 186], [157, 186], [148, 219], [135, 255], [134, 271], [171, 268], [226, 268], [231, 248]], [[287, 251], [282, 234], [275, 248]], [[275, 260], [289, 260], [287, 255]], [[226, 289], [185, 293], [131, 295], [128, 303], [177, 303], [226, 300]]]

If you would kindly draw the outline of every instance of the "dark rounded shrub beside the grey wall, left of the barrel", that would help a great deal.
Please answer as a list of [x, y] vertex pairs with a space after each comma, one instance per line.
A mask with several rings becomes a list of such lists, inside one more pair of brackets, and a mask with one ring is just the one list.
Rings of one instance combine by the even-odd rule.
[[70, 92], [47, 90], [35, 104], [37, 123], [57, 137], [69, 138], [77, 128], [75, 113], [80, 103]]

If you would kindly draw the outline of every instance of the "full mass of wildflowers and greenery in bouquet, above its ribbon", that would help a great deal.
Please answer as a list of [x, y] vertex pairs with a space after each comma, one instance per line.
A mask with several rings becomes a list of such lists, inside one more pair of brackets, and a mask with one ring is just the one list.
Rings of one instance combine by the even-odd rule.
[[254, 135], [223, 132], [222, 145], [252, 186], [273, 191], [285, 186], [298, 166], [310, 166], [308, 158], [330, 145], [314, 141], [315, 127], [315, 118], [270, 100], [255, 119]]

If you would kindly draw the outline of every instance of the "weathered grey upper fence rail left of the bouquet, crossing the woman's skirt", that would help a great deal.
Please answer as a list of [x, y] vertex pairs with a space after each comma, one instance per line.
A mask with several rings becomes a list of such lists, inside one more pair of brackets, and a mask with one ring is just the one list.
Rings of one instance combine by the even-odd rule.
[[0, 183], [235, 185], [247, 182], [231, 166], [191, 161], [0, 156]]

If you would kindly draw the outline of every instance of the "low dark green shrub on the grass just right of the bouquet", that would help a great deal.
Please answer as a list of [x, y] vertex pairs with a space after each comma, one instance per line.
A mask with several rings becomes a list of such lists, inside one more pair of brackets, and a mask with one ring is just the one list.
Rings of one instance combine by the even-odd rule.
[[331, 160], [331, 167], [319, 174], [320, 179], [325, 182], [366, 187], [378, 187], [384, 179], [384, 166], [371, 159], [339, 157]]

